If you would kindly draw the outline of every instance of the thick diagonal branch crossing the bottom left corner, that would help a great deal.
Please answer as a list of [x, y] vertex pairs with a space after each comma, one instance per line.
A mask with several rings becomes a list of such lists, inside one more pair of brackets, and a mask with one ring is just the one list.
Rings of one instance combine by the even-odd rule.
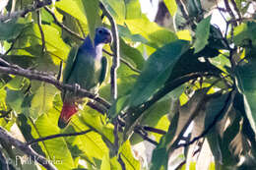
[[12, 137], [12, 135], [7, 132], [5, 129], [0, 127], [0, 139], [4, 142], [8, 142], [15, 147], [19, 148], [21, 151], [32, 157], [32, 161], [36, 161], [39, 164], [41, 164], [43, 167], [45, 167], [47, 170], [57, 170], [57, 168], [47, 159], [45, 159], [43, 156], [37, 154], [31, 146], [27, 145], [24, 142], [20, 142], [19, 140], [16, 140]]

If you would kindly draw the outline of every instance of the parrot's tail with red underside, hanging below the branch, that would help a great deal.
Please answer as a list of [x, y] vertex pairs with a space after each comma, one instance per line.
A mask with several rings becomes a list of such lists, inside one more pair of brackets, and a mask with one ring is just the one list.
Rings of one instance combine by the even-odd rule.
[[59, 128], [65, 128], [72, 115], [78, 112], [78, 106], [75, 103], [64, 102], [60, 113], [58, 126]]

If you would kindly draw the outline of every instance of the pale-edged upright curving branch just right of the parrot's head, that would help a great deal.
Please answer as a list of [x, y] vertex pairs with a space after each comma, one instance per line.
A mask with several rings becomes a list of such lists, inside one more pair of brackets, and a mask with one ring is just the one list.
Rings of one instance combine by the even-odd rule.
[[118, 30], [117, 26], [115, 23], [115, 20], [109, 13], [109, 11], [105, 8], [105, 6], [99, 2], [99, 6], [103, 12], [103, 14], [107, 17], [111, 24], [111, 30], [113, 34], [113, 60], [112, 60], [112, 66], [110, 69], [110, 77], [111, 77], [111, 96], [112, 96], [112, 101], [114, 101], [117, 98], [117, 83], [116, 83], [116, 78], [117, 78], [117, 69], [119, 67], [119, 37], [118, 37]]

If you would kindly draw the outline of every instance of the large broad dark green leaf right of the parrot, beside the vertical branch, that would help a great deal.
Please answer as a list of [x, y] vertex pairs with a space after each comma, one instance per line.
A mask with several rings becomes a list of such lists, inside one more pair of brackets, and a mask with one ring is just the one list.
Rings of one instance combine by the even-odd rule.
[[188, 41], [177, 40], [152, 54], [133, 87], [130, 105], [137, 106], [147, 101], [165, 83], [176, 61], [188, 48]]

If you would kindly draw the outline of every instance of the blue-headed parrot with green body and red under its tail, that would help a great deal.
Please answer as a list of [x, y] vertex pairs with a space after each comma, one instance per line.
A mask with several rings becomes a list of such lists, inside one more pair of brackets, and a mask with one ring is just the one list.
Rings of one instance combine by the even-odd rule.
[[[78, 85], [93, 92], [104, 81], [107, 60], [102, 57], [102, 47], [111, 43], [112, 34], [107, 28], [96, 28], [95, 34], [94, 42], [88, 35], [80, 47], [71, 48], [63, 72], [63, 84]], [[83, 97], [69, 90], [63, 90], [61, 97], [63, 106], [58, 126], [65, 128], [71, 116], [78, 112], [78, 105]]]

